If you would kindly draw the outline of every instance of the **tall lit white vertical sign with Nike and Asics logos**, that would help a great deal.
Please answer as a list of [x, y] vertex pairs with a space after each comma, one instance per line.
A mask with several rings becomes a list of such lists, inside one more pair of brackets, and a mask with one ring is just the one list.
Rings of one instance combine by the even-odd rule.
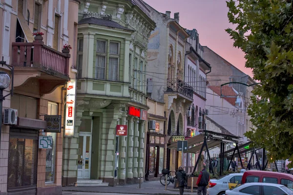
[[70, 81], [67, 82], [65, 137], [74, 136], [75, 96], [76, 96], [76, 79], [71, 79]]

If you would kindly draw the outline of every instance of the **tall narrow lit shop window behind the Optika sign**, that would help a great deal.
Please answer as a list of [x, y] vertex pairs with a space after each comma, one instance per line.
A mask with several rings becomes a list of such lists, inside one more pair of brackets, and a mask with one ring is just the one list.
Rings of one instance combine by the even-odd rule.
[[[48, 102], [48, 115], [58, 115], [58, 105], [53, 102]], [[45, 182], [54, 182], [55, 172], [55, 150], [56, 150], [56, 133], [46, 133], [46, 136], [52, 136], [52, 149], [46, 149], [46, 178]]]

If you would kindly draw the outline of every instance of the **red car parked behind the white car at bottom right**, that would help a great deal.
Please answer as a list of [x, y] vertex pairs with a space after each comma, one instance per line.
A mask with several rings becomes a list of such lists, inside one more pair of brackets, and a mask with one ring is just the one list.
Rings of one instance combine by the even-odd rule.
[[270, 171], [247, 171], [243, 174], [241, 184], [251, 182], [282, 184], [293, 190], [293, 175]]

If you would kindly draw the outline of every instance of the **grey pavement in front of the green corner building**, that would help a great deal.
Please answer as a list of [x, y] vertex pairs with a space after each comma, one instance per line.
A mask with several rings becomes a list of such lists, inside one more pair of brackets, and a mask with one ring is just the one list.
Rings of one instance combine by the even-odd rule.
[[[124, 186], [98, 186], [98, 187], [63, 187], [63, 191], [71, 192], [90, 192], [90, 193], [121, 193], [121, 194], [141, 194], [141, 195], [179, 195], [179, 189], [174, 189], [172, 183], [163, 186], [160, 181], [145, 181], [141, 188], [139, 184], [124, 185]], [[191, 190], [184, 189], [184, 195], [197, 195], [196, 188]]]

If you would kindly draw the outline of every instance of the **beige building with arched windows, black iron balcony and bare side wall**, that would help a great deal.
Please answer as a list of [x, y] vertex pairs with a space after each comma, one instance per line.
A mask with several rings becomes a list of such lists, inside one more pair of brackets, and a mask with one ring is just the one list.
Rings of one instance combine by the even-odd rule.
[[[179, 25], [179, 13], [159, 13], [149, 5], [151, 19], [157, 24], [148, 43], [147, 79], [152, 79], [148, 97], [165, 103], [167, 141], [184, 136], [185, 115], [193, 101], [193, 88], [184, 82], [185, 44], [188, 33]], [[182, 154], [167, 149], [166, 167], [170, 171], [182, 165]]]

